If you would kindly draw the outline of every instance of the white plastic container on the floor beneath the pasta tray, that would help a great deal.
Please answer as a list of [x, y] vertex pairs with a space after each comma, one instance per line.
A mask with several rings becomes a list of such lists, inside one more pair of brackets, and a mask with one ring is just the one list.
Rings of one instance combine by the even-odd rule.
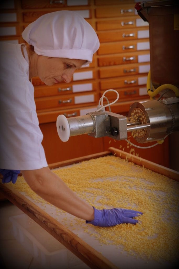
[[26, 214], [10, 217], [13, 235], [43, 268], [71, 268], [84, 264]]

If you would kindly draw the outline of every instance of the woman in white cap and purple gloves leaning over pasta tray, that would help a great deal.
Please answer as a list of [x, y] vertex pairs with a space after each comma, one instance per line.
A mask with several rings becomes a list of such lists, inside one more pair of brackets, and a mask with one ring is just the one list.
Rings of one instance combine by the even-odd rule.
[[[46, 85], [69, 83], [74, 71], [92, 62], [99, 48], [93, 28], [73, 11], [39, 17], [22, 33], [25, 44], [1, 45], [1, 174], [3, 183], [16, 182], [21, 171], [31, 189], [51, 204], [86, 223], [114, 226], [136, 224], [138, 211], [97, 210], [80, 199], [50, 171], [42, 147], [31, 78]], [[19, 171], [20, 170], [20, 171]]]

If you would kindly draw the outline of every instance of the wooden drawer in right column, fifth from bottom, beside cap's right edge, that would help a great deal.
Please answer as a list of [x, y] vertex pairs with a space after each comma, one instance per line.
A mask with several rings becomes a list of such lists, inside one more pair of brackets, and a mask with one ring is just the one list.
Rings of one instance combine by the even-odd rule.
[[124, 53], [149, 49], [149, 39], [128, 40], [113, 43], [102, 43], [98, 49], [98, 55]]

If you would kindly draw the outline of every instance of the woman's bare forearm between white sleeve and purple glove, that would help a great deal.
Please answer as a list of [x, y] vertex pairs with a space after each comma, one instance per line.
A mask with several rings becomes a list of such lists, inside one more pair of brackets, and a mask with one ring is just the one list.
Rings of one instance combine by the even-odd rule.
[[94, 209], [79, 198], [48, 167], [21, 171], [31, 189], [44, 200], [83, 220], [94, 219]]

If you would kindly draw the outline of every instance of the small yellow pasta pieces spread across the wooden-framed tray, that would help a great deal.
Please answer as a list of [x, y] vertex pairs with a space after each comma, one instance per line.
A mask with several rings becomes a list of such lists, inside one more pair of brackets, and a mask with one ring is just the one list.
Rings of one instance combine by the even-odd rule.
[[[178, 182], [114, 156], [83, 161], [54, 170], [54, 173], [97, 209], [121, 207], [143, 212], [143, 215], [137, 217], [141, 224], [120, 224], [107, 228], [93, 226], [91, 229], [91, 225], [75, 218], [78, 227], [97, 238], [100, 244], [115, 245], [116, 251], [127, 251], [129, 255], [144, 260], [165, 263], [177, 259]], [[23, 177], [16, 184], [9, 184], [36, 202], [48, 204], [28, 187]], [[56, 214], [60, 212], [62, 210], [56, 208]], [[63, 222], [75, 229], [68, 217], [64, 217]]]

